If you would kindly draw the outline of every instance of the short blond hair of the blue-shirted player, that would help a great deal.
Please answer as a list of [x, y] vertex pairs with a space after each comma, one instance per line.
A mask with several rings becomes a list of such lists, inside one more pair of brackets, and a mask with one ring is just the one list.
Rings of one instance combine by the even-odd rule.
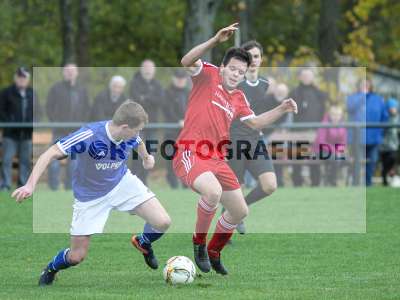
[[135, 128], [142, 123], [147, 124], [149, 116], [139, 103], [126, 100], [117, 108], [112, 121], [118, 126], [127, 124], [130, 128]]

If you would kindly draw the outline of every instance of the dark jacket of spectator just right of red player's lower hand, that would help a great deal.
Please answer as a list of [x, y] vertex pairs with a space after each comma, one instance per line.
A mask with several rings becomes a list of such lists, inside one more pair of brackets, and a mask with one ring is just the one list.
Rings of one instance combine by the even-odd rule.
[[327, 94], [314, 85], [300, 84], [291, 93], [290, 98], [297, 102], [298, 113], [294, 122], [320, 122], [324, 116]]

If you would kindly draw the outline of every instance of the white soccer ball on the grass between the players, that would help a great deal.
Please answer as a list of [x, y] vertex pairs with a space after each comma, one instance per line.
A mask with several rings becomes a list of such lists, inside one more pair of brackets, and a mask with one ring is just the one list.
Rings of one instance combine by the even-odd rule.
[[164, 280], [170, 284], [188, 284], [196, 276], [193, 262], [186, 256], [173, 256], [164, 267]]

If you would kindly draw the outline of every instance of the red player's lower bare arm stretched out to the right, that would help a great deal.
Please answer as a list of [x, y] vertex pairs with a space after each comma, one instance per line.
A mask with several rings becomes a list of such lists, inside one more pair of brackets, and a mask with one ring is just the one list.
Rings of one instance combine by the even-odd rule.
[[254, 118], [246, 119], [243, 122], [250, 128], [262, 129], [268, 125], [271, 125], [282, 115], [289, 112], [297, 114], [297, 103], [292, 98], [283, 100], [282, 103], [274, 109], [266, 111]]

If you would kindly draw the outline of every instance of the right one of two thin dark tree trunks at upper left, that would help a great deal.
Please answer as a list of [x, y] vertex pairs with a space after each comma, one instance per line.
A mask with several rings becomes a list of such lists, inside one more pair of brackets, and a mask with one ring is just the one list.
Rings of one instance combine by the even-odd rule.
[[77, 62], [81, 67], [89, 67], [89, 1], [79, 1]]

